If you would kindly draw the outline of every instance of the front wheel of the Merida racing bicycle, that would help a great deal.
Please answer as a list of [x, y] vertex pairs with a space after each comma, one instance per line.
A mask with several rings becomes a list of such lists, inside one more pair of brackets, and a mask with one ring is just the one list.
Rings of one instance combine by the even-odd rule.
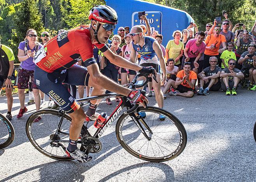
[[[153, 106], [148, 106], [147, 108], [139, 107], [138, 112], [146, 112], [147, 116], [144, 118], [144, 121], [153, 131], [153, 135], [152, 139], [148, 141], [139, 127], [133, 122], [129, 114], [121, 115], [116, 124], [116, 136], [121, 146], [128, 151], [128, 153], [139, 159], [151, 162], [172, 160], [182, 153], [187, 143], [187, 133], [178, 118], [170, 112]], [[166, 117], [165, 120], [161, 121], [159, 119], [159, 114], [164, 115]], [[143, 128], [147, 132], [144, 125]], [[160, 132], [157, 132], [158, 130]], [[170, 137], [173, 138], [161, 138], [159, 136], [159, 134], [161, 135], [161, 130], [163, 130], [162, 135], [165, 135], [164, 137], [170, 135]], [[148, 144], [146, 144], [147, 142]], [[159, 144], [160, 142], [163, 142], [166, 147]], [[142, 145], [140, 143], [144, 144]], [[147, 145], [147, 148], [142, 149], [145, 144]], [[142, 145], [141, 148], [139, 148], [140, 145]], [[167, 148], [170, 148], [170, 150]], [[146, 155], [142, 154], [145, 150]]]

